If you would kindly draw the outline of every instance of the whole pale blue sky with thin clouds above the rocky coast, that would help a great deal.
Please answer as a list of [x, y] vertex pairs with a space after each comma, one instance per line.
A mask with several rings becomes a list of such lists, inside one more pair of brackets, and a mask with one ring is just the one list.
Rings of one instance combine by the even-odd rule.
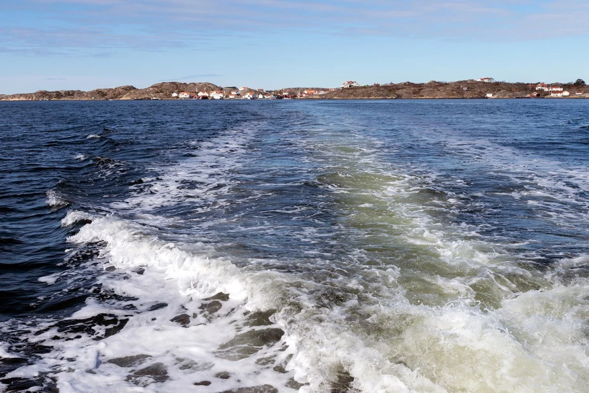
[[0, 94], [589, 81], [582, 0], [3, 0]]

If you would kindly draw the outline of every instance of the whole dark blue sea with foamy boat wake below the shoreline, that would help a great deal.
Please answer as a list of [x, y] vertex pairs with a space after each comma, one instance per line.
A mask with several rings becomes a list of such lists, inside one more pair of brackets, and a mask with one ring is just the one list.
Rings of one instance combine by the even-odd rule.
[[589, 100], [0, 103], [0, 391], [589, 391]]

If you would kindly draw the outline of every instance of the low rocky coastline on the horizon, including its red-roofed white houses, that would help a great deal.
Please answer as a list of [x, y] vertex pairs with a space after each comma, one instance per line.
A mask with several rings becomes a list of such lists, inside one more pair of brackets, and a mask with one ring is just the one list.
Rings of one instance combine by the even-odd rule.
[[[545, 84], [488, 82], [465, 80], [456, 82], [389, 83], [358, 86], [345, 82], [340, 88], [283, 88], [255, 90], [247, 87], [221, 87], [209, 82], [160, 82], [147, 88], [125, 85], [91, 91], [39, 90], [35, 93], [0, 95], [0, 101], [47, 100], [173, 100], [181, 98], [303, 98], [309, 100], [368, 100], [419, 98], [589, 98], [586, 85], [558, 85], [558, 94]], [[564, 88], [562, 87], [564, 86]], [[567, 90], [564, 90], [564, 89]]]

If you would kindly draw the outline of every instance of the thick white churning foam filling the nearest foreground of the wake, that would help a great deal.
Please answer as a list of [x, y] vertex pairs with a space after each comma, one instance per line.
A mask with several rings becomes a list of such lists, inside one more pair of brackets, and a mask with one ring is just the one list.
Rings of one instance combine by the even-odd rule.
[[[70, 213], [64, 225], [80, 219]], [[48, 373], [61, 392], [589, 389], [589, 285], [563, 282], [567, 264], [548, 273], [553, 285], [492, 310], [468, 294], [414, 304], [401, 269], [364, 267], [337, 279], [239, 268], [210, 246], [162, 242], [114, 217], [94, 218], [70, 240], [105, 244], [99, 257], [114, 270], [97, 286], [110, 297], [40, 323], [29, 340], [53, 351], [8, 378]]]

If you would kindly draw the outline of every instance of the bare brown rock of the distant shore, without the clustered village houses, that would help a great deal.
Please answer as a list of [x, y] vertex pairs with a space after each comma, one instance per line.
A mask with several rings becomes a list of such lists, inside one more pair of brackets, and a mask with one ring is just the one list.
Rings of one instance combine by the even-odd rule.
[[[138, 89], [125, 85], [114, 88], [103, 88], [91, 91], [81, 90], [40, 90], [35, 93], [0, 95], [0, 101], [48, 101], [48, 100], [174, 100], [173, 93], [187, 91], [225, 91], [235, 90], [236, 87], [220, 87], [209, 82], [161, 82], [150, 87]], [[246, 91], [257, 90], [244, 88]], [[482, 82], [474, 80], [457, 82], [429, 81], [427, 83], [402, 82], [398, 84], [375, 84], [350, 88], [338, 88], [325, 94], [297, 97], [305, 100], [394, 100], [394, 99], [422, 99], [422, 98], [589, 98], [589, 87], [575, 88], [570, 97], [550, 97], [544, 91], [531, 90], [529, 84], [507, 82]], [[282, 91], [286, 89], [276, 90]], [[306, 88], [287, 89], [294, 94], [302, 93]], [[327, 89], [326, 89], [327, 90]], [[534, 93], [536, 95], [534, 96]], [[272, 94], [272, 92], [268, 93]]]

